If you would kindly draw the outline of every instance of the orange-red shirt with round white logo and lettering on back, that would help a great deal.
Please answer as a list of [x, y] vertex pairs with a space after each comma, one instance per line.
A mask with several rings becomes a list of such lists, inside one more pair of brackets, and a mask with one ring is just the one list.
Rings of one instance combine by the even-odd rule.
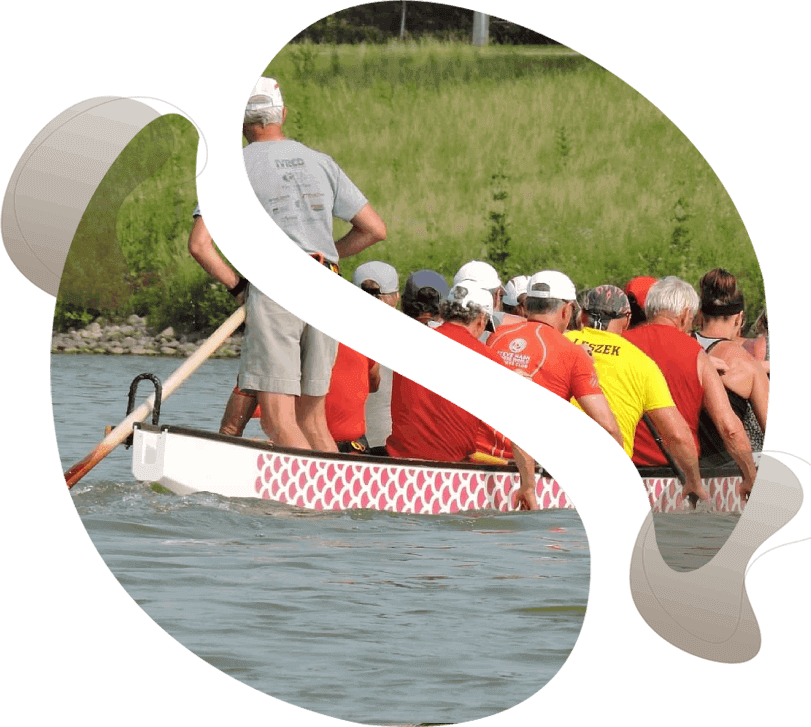
[[603, 393], [591, 357], [548, 323], [499, 328], [487, 346], [508, 369], [565, 401]]

